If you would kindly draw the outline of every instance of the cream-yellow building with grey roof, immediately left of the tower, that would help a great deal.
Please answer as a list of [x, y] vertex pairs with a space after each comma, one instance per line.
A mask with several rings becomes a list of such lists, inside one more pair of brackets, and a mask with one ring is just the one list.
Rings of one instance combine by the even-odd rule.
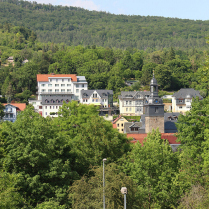
[[120, 114], [138, 116], [144, 112], [144, 101], [149, 97], [148, 91], [122, 91], [118, 96]]

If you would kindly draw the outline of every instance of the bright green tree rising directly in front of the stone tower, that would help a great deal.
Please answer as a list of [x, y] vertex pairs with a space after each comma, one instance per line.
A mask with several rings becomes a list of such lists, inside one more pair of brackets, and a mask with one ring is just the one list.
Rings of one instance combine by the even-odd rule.
[[173, 179], [178, 172], [178, 160], [159, 131], [148, 134], [146, 141], [135, 144], [124, 162], [128, 175], [137, 184], [141, 208], [171, 208], [176, 204]]

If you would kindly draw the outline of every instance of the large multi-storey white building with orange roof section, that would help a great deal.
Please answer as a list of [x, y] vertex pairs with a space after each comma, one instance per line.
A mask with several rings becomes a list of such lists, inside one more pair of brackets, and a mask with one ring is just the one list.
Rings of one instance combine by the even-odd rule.
[[80, 101], [81, 91], [88, 89], [85, 76], [75, 74], [38, 74], [37, 100], [29, 100], [29, 104], [44, 117], [56, 116], [63, 101]]

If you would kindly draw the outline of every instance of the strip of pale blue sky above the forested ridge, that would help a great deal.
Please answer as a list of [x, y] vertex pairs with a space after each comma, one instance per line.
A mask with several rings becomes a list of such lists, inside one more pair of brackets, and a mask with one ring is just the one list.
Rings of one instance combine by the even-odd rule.
[[[32, 0], [28, 0], [32, 1]], [[112, 14], [209, 20], [209, 0], [35, 0], [38, 3], [76, 6]]]

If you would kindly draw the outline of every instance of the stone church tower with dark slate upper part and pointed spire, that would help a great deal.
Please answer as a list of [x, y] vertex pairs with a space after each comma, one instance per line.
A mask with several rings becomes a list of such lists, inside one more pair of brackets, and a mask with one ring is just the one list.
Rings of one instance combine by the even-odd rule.
[[159, 128], [164, 133], [164, 104], [158, 96], [158, 84], [154, 76], [150, 82], [150, 97], [145, 100], [145, 133]]

